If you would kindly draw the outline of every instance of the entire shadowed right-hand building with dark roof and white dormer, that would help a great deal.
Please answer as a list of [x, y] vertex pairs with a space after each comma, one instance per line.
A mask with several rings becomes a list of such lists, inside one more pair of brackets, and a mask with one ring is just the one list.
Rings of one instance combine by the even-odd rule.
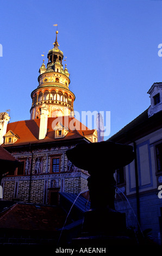
[[[127, 227], [151, 230], [162, 244], [162, 83], [148, 90], [150, 106], [108, 141], [132, 145], [135, 160], [116, 170], [116, 210], [126, 214]], [[127, 200], [126, 200], [127, 198]]]

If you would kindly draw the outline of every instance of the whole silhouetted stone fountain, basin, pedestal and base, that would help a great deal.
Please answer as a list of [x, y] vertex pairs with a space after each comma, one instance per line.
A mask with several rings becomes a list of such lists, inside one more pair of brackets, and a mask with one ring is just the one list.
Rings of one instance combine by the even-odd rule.
[[[111, 245], [130, 243], [125, 215], [114, 206], [115, 170], [134, 160], [133, 147], [114, 142], [80, 143], [66, 151], [78, 168], [88, 170], [91, 208], [85, 212], [82, 235], [77, 244]], [[75, 239], [76, 241], [76, 239]]]

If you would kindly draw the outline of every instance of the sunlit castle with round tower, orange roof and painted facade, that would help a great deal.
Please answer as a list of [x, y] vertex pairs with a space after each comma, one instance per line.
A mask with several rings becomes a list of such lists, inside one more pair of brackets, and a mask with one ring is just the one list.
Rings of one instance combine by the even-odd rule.
[[9, 115], [0, 114], [0, 144], [20, 162], [3, 176], [3, 200], [56, 205], [59, 192], [79, 193], [87, 187], [88, 172], [73, 166], [66, 150], [97, 142], [97, 131], [74, 118], [75, 96], [57, 35], [31, 94], [30, 120], [8, 123]]

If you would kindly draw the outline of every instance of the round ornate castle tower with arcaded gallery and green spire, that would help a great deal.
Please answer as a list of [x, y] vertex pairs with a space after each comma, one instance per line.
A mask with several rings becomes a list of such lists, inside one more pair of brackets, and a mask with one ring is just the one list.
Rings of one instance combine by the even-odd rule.
[[48, 117], [59, 117], [71, 115], [73, 113], [74, 94], [68, 89], [70, 84], [68, 70], [63, 68], [63, 52], [59, 50], [56, 39], [54, 47], [49, 50], [47, 58], [47, 68], [44, 60], [39, 69], [39, 86], [33, 90], [32, 107], [30, 109], [30, 119], [40, 118], [42, 105], [46, 104]]

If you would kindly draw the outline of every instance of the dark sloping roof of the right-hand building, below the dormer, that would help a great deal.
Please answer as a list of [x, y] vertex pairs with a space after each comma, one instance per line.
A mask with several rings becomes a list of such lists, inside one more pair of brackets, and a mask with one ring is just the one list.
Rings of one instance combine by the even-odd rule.
[[146, 109], [119, 132], [111, 136], [108, 141], [130, 143], [160, 128], [162, 128], [162, 111], [148, 117], [148, 109]]

